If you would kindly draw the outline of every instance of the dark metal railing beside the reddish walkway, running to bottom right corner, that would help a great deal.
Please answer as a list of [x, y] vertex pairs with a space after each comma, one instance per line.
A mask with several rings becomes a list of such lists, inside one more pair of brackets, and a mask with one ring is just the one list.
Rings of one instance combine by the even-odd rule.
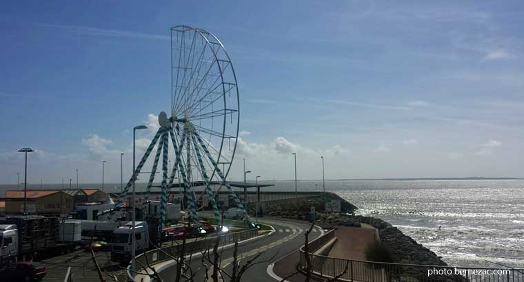
[[[308, 244], [313, 274], [332, 278], [344, 272], [338, 281], [361, 282], [524, 282], [524, 269], [461, 268], [442, 265], [379, 263], [339, 259], [313, 254], [334, 237], [334, 230]], [[300, 265], [306, 266], [304, 247], [300, 249]]]

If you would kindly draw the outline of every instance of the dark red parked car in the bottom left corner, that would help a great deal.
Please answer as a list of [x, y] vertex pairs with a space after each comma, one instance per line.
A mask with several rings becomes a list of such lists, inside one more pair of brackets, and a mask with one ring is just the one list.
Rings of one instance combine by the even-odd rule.
[[43, 263], [24, 261], [1, 270], [0, 281], [40, 281], [46, 274], [46, 265]]

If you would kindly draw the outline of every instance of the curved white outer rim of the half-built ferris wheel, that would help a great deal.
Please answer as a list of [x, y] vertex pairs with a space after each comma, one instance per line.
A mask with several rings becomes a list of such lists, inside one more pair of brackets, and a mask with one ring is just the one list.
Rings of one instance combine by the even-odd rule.
[[[234, 138], [234, 146], [232, 146], [232, 153], [231, 153], [231, 157], [230, 157], [230, 160], [228, 160], [228, 168], [225, 169], [224, 171], [222, 171], [223, 173], [223, 176], [224, 178], [225, 177], [228, 177], [229, 173], [230, 173], [230, 170], [231, 170], [231, 166], [232, 166], [232, 162], [234, 160], [234, 156], [236, 154], [236, 146], [238, 144], [238, 140], [239, 140], [239, 129], [240, 129], [240, 97], [239, 97], [239, 86], [238, 86], [238, 82], [236, 80], [236, 73], [234, 71], [234, 66], [232, 64], [232, 61], [231, 61], [231, 58], [230, 58], [230, 55], [228, 54], [227, 50], [225, 50], [225, 47], [223, 45], [223, 43], [221, 43], [221, 41], [214, 35], [212, 34], [211, 32], [209, 32], [208, 30], [204, 30], [204, 29], [201, 29], [201, 28], [193, 28], [192, 26], [190, 25], [175, 25], [173, 26], [171, 29], [171, 43], [173, 44], [173, 41], [172, 41], [172, 32], [173, 31], [176, 31], [176, 32], [190, 32], [190, 31], [194, 31], [194, 32], [197, 32], [201, 39], [204, 39], [205, 40], [205, 44], [209, 46], [210, 50], [212, 51], [212, 54], [215, 58], [215, 60], [218, 58], [217, 56], [217, 52], [219, 52], [221, 50], [221, 52], [223, 52], [223, 54], [228, 58], [228, 62], [229, 62], [229, 65], [228, 67], [230, 68], [230, 71], [231, 71], [231, 75], [232, 75], [232, 78], [234, 79], [234, 95], [236, 95], [236, 107], [237, 107], [237, 114], [236, 114], [236, 128], [233, 128], [234, 130], [234, 135], [231, 135], [230, 137], [228, 137], [230, 139], [230, 142], [231, 142], [231, 138]], [[211, 42], [210, 42], [210, 39], [208, 39], [208, 37], [206, 37], [204, 34], [208, 34], [208, 36], [211, 36], [212, 39], [214, 41], [216, 41], [216, 43], [219, 44], [219, 49], [217, 50], [214, 50], [211, 46]], [[204, 47], [205, 48], [205, 47]], [[173, 63], [173, 61], [171, 61]], [[213, 179], [215, 173], [216, 173], [216, 170], [219, 169], [219, 164], [220, 164], [220, 161], [221, 159], [223, 160], [227, 160], [227, 158], [224, 157], [223, 155], [223, 144], [224, 144], [224, 140], [225, 140], [225, 129], [226, 129], [226, 118], [228, 116], [228, 102], [226, 100], [226, 97], [225, 97], [225, 83], [224, 83], [224, 70], [222, 69], [221, 65], [219, 63], [216, 63], [217, 67], [219, 68], [219, 74], [220, 74], [220, 79], [221, 79], [221, 88], [222, 88], [222, 100], [223, 100], [223, 109], [219, 109], [217, 111], [223, 111], [223, 119], [222, 119], [222, 122], [223, 122], [223, 126], [222, 126], [222, 134], [221, 134], [221, 140], [220, 140], [220, 148], [218, 150], [218, 155], [217, 155], [217, 164], [216, 166], [213, 167], [213, 171], [211, 173], [211, 176], [210, 176], [210, 180]], [[178, 71], [179, 72], [179, 71]], [[173, 77], [173, 76], [172, 76]], [[173, 92], [172, 92], [172, 95], [173, 95]], [[172, 97], [172, 104], [173, 104], [173, 99], [174, 97]], [[212, 105], [212, 104], [210, 104]], [[171, 112], [171, 115], [174, 116], [174, 111], [176, 109], [174, 109], [173, 105], [172, 105], [172, 112]], [[231, 113], [232, 114], [232, 113]], [[223, 164], [225, 164], [225, 162], [222, 162]]]

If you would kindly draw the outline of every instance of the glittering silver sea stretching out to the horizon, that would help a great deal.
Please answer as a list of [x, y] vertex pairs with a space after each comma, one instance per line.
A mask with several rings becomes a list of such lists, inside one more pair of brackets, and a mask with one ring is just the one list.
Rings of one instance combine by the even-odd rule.
[[[265, 183], [274, 186], [264, 191], [294, 191], [293, 180]], [[321, 191], [322, 181], [297, 186]], [[524, 180], [326, 180], [325, 187], [357, 206], [357, 214], [390, 222], [448, 265], [524, 268]], [[14, 187], [0, 185], [2, 195], [6, 188]], [[144, 189], [137, 183], [137, 191]], [[120, 191], [120, 184], [105, 184], [105, 191]]]

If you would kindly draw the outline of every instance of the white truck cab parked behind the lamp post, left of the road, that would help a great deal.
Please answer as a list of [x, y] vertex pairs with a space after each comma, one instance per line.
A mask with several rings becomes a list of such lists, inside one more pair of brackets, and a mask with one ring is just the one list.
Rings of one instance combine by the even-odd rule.
[[[132, 248], [132, 221], [125, 223], [123, 226], [114, 228], [111, 240], [111, 260], [127, 263], [130, 261]], [[136, 221], [134, 224], [135, 238], [137, 240], [135, 254], [141, 254], [149, 249], [149, 228], [145, 221]]]

